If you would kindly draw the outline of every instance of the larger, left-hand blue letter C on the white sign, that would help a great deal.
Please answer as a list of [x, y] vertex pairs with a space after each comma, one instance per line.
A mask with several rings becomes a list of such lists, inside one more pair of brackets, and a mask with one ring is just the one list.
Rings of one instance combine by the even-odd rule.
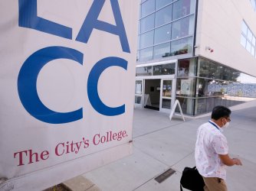
[[39, 99], [37, 79], [40, 70], [52, 60], [69, 59], [83, 65], [83, 53], [67, 47], [45, 47], [31, 54], [18, 74], [18, 95], [24, 108], [34, 118], [51, 124], [62, 124], [83, 118], [83, 108], [74, 112], [54, 112]]

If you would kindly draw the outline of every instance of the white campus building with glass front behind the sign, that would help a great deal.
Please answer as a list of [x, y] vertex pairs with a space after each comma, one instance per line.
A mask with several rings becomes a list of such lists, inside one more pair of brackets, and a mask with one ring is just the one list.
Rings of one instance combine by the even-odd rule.
[[256, 0], [141, 0], [136, 107], [186, 115], [256, 98]]

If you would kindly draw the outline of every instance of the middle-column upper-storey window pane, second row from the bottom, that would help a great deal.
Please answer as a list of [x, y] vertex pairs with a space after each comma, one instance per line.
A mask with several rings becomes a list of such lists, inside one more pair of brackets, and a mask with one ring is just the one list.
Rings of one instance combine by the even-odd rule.
[[171, 24], [166, 24], [161, 28], [155, 30], [155, 44], [171, 40]]

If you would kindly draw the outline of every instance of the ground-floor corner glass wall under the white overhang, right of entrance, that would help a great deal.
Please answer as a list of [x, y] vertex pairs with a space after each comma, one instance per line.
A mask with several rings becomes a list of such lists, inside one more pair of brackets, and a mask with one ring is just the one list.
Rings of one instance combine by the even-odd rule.
[[[256, 98], [256, 78], [205, 58], [179, 60], [176, 99], [182, 112], [200, 115]], [[179, 112], [179, 111], [177, 111]]]

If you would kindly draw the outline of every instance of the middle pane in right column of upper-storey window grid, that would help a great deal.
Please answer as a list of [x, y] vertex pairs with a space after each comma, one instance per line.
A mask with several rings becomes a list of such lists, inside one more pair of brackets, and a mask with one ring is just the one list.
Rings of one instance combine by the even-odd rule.
[[182, 18], [172, 24], [172, 39], [193, 34], [194, 17]]

